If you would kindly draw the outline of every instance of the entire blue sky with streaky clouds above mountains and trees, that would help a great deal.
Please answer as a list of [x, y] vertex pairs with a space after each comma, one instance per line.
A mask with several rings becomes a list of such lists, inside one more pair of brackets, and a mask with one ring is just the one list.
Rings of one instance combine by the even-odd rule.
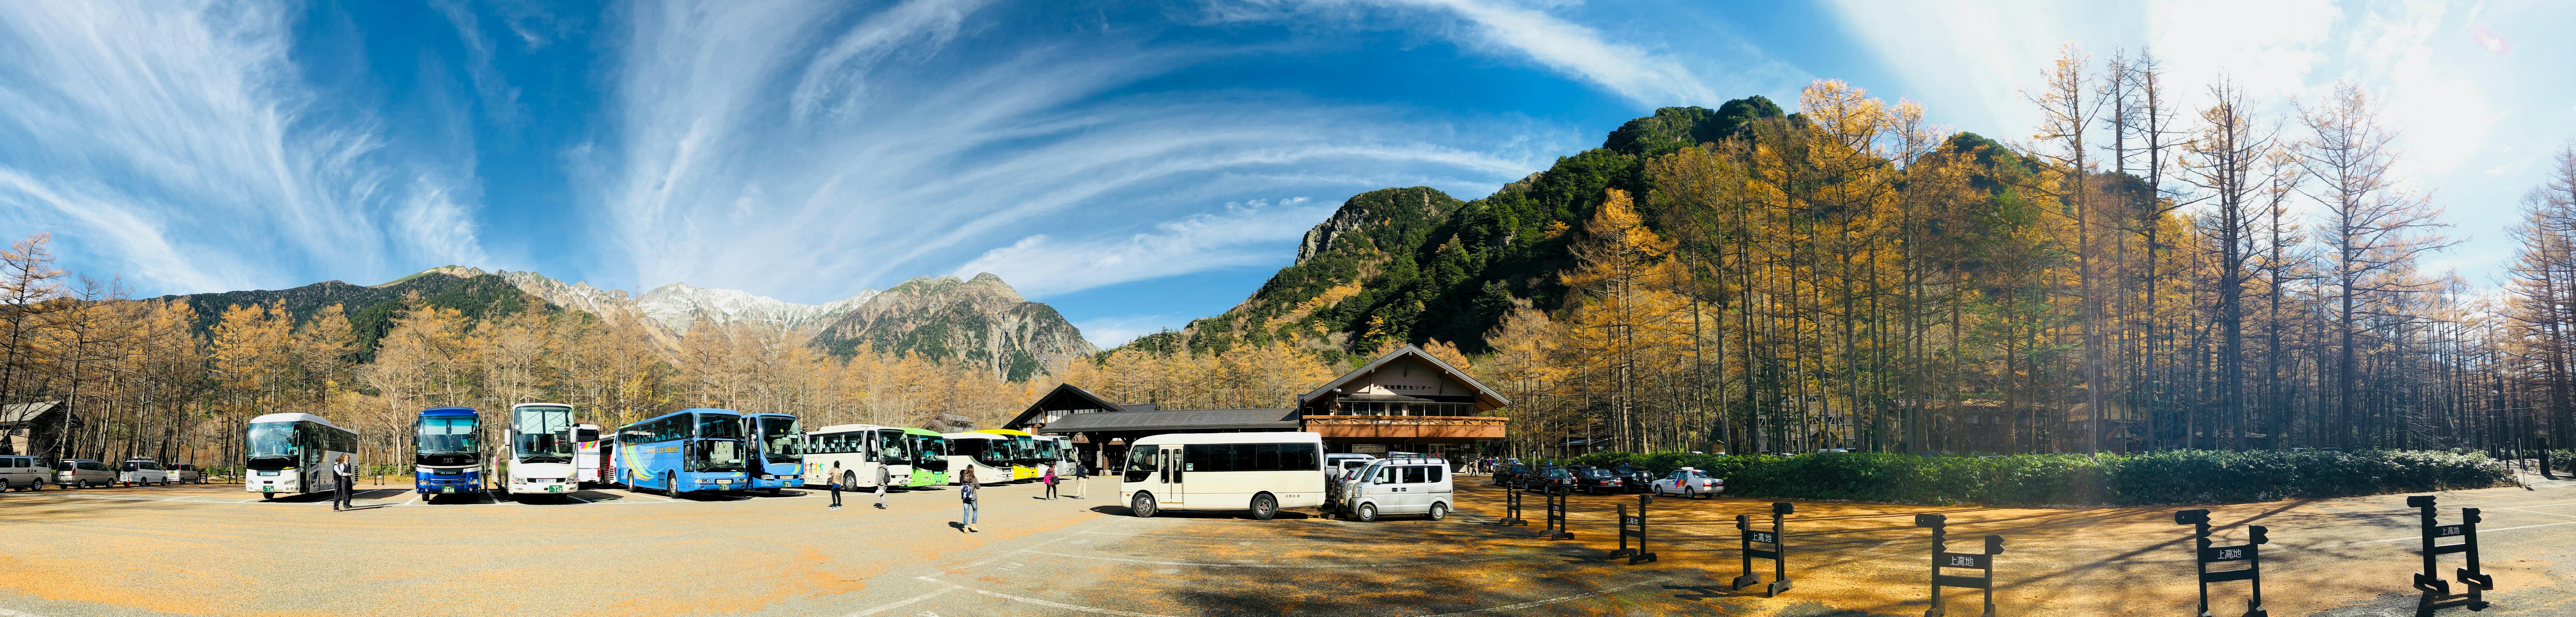
[[2491, 283], [2576, 139], [2566, 3], [8, 3], [0, 231], [137, 293], [435, 265], [819, 303], [997, 273], [1100, 344], [1342, 198], [1481, 198], [1659, 105], [1839, 77], [2025, 139], [2061, 44], [2275, 121], [2354, 80]]

